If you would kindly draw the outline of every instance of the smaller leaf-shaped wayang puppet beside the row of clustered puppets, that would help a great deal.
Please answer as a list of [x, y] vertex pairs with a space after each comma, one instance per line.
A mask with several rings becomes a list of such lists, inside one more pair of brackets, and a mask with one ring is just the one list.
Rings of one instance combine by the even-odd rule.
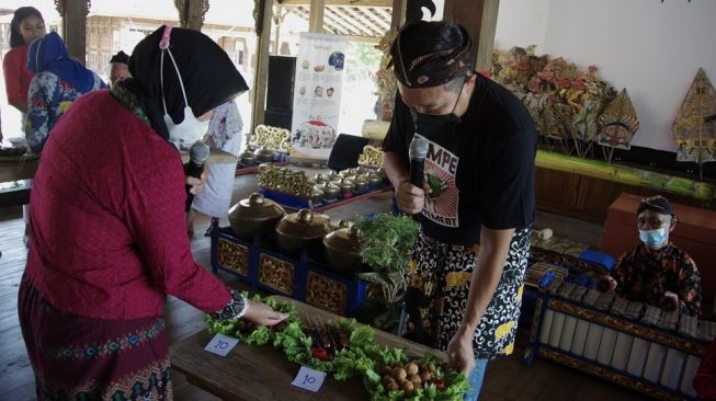
[[632, 148], [632, 138], [639, 129], [639, 119], [626, 88], [622, 89], [616, 98], [604, 107], [604, 112], [598, 118], [598, 125], [599, 145], [612, 148], [609, 161], [612, 160], [614, 148], [626, 150]]

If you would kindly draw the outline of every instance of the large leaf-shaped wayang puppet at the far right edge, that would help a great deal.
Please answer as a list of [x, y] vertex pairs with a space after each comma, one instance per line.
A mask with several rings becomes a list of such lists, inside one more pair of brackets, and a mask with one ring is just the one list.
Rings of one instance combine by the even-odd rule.
[[700, 165], [716, 160], [716, 91], [706, 72], [698, 69], [671, 127], [677, 160]]

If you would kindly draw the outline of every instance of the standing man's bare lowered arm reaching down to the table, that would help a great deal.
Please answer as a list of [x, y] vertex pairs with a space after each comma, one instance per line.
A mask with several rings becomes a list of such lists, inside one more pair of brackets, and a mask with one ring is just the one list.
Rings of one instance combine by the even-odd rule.
[[514, 229], [512, 228], [492, 230], [482, 226], [480, 230], [480, 253], [473, 271], [465, 316], [447, 346], [448, 364], [465, 374], [475, 365], [473, 350], [475, 330], [477, 330], [500, 282], [513, 234]]

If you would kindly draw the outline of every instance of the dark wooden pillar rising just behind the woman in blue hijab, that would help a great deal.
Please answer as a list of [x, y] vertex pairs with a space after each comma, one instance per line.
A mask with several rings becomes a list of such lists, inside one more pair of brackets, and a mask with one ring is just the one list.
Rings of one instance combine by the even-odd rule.
[[90, 12], [89, 1], [59, 0], [55, 1], [57, 11], [62, 18], [62, 41], [70, 56], [87, 64], [87, 14]]

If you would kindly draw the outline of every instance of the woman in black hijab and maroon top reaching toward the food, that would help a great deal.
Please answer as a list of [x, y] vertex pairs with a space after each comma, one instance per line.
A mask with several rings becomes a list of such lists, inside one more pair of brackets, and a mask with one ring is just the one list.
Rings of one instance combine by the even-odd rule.
[[285, 319], [194, 263], [168, 142], [201, 137], [243, 79], [204, 34], [163, 26], [129, 66], [133, 78], [72, 103], [35, 175], [18, 306], [38, 400], [171, 400], [166, 294], [218, 319]]

